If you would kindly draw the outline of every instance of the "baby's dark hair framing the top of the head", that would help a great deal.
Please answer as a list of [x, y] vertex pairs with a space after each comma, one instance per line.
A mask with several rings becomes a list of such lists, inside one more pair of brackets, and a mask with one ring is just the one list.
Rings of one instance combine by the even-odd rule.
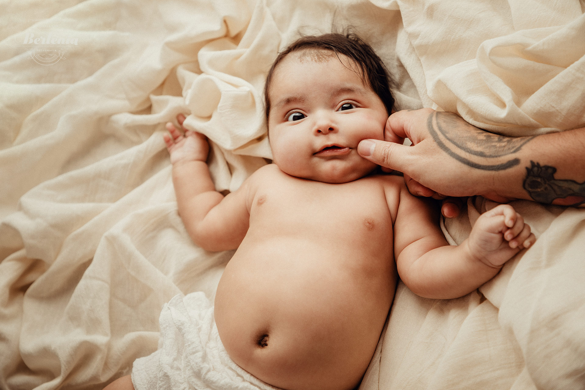
[[278, 53], [278, 56], [276, 57], [276, 60], [274, 60], [274, 63], [268, 72], [268, 76], [266, 77], [266, 84], [264, 84], [264, 106], [266, 108], [266, 118], [268, 118], [270, 114], [269, 89], [274, 70], [284, 57], [294, 51], [300, 50], [317, 52], [331, 51], [338, 58], [339, 54], [343, 54], [355, 62], [362, 70], [361, 77], [364, 84], [368, 84], [376, 95], [380, 96], [381, 101], [384, 103], [384, 106], [386, 106], [388, 115], [390, 115], [394, 106], [394, 98], [390, 92], [388, 71], [380, 57], [378, 57], [369, 44], [363, 42], [363, 40], [355, 33], [328, 33], [318, 36], [301, 37]]

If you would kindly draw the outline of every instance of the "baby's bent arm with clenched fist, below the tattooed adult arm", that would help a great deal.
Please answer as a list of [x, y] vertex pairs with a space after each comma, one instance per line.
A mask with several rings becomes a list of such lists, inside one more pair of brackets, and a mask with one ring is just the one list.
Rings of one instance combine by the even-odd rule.
[[408, 288], [426, 298], [458, 298], [472, 292], [536, 240], [510, 205], [483, 213], [459, 246], [447, 243], [438, 218], [428, 199], [401, 191], [394, 224], [398, 274]]

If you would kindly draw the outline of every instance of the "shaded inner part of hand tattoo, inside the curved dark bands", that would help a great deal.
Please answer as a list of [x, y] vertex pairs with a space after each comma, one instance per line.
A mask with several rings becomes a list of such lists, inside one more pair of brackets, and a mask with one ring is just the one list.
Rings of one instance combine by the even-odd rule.
[[[457, 132], [455, 134], [451, 129], [456, 126], [462, 126], [462, 123], [457, 120], [459, 117], [451, 112], [441, 114], [441, 122], [439, 122], [438, 118], [435, 120], [437, 130], [450, 143], [474, 156], [503, 157], [508, 154], [514, 154], [535, 137], [504, 137], [499, 134], [478, 130], [472, 125], [467, 126], [469, 130], [466, 130], [466, 132]], [[436, 115], [439, 114], [436, 113]]]

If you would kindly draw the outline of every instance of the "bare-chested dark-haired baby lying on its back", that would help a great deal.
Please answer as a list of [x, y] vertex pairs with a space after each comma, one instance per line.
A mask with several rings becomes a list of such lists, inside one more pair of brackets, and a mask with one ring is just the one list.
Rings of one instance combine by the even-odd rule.
[[192, 240], [237, 249], [219, 281], [215, 322], [232, 360], [262, 381], [355, 388], [398, 275], [418, 295], [457, 298], [534, 243], [522, 217], [500, 205], [449, 246], [427, 199], [400, 176], [372, 174], [376, 165], [357, 144], [384, 139], [394, 101], [380, 58], [355, 35], [293, 43], [273, 64], [265, 95], [273, 164], [226, 196], [209, 176], [204, 136], [171, 123], [164, 136]]

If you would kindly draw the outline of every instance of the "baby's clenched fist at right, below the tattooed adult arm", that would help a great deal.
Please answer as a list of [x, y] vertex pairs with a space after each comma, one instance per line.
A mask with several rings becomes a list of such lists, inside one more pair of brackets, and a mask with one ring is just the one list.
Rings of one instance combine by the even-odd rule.
[[512, 206], [499, 205], [480, 215], [469, 234], [467, 247], [474, 258], [499, 268], [535, 241], [524, 218]]

